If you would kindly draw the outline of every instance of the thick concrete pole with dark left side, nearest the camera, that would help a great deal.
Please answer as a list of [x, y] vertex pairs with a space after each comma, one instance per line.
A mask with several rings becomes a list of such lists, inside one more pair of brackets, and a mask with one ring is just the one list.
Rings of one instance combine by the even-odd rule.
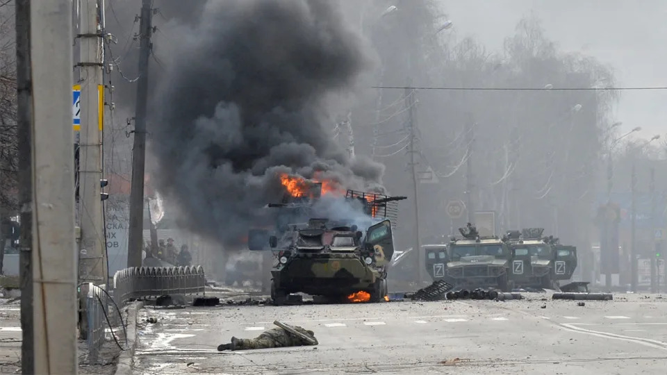
[[16, 21], [22, 373], [76, 374], [70, 1], [17, 0]]

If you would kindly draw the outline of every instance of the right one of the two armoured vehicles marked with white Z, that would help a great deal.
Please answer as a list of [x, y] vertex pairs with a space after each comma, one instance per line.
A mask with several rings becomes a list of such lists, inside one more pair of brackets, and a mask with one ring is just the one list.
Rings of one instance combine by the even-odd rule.
[[511, 251], [510, 283], [520, 288], [559, 289], [577, 268], [577, 248], [543, 237], [544, 228], [508, 231], [502, 239]]

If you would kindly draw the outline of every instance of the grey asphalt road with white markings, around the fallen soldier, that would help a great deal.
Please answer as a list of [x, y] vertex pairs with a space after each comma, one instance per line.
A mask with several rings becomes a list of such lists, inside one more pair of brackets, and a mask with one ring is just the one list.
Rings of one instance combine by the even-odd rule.
[[[546, 299], [546, 300], [543, 300]], [[545, 308], [542, 308], [545, 306]], [[142, 310], [136, 374], [665, 374], [667, 297]], [[317, 347], [217, 352], [277, 319]]]

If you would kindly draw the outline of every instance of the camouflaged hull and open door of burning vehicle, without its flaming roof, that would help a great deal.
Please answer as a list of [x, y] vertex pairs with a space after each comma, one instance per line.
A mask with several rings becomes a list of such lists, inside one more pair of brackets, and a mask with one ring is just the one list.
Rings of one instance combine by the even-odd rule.
[[286, 233], [271, 272], [272, 299], [296, 292], [340, 298], [359, 291], [368, 292], [371, 301], [383, 299], [394, 251], [390, 222], [370, 226], [365, 235], [356, 229], [311, 219], [308, 227]]

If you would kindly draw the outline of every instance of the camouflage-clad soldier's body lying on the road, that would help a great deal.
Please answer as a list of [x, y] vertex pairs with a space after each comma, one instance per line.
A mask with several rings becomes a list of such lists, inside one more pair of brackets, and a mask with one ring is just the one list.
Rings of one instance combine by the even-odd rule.
[[282, 347], [301, 347], [306, 345], [317, 345], [318, 339], [315, 338], [313, 331], [306, 330], [299, 326], [293, 326], [296, 331], [303, 333], [309, 338], [313, 339], [315, 344], [307, 342], [303, 338], [286, 331], [283, 328], [272, 328], [263, 332], [254, 339], [238, 339], [231, 338], [229, 344], [221, 344], [217, 347], [218, 351], [225, 350], [247, 350], [247, 349], [268, 349], [268, 348], [282, 348]]

